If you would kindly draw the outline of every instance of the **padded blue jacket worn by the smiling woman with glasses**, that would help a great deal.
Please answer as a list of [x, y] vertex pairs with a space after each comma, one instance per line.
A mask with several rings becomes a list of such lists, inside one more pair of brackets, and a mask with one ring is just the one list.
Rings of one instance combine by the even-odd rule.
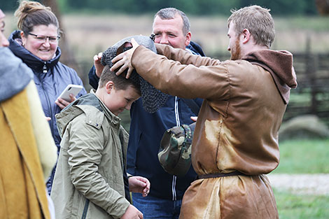
[[[27, 64], [34, 73], [34, 83], [38, 90], [43, 112], [45, 113], [45, 116], [51, 118], [49, 121], [50, 130], [57, 146], [57, 153], [59, 153], [59, 143], [61, 138], [57, 130], [55, 115], [61, 111], [61, 108], [55, 104], [55, 100], [67, 85], [83, 85], [83, 82], [78, 77], [76, 71], [59, 62], [59, 57], [61, 55], [59, 47], [55, 52], [55, 57], [48, 61], [43, 61], [22, 46], [20, 31], [13, 31], [13, 33], [10, 34], [8, 41], [10, 43], [10, 50], [16, 57], [22, 59], [22, 61]], [[85, 88], [79, 92], [77, 97], [80, 97], [83, 94], [86, 94]], [[47, 183], [48, 192], [51, 190], [54, 174], [55, 168], [53, 169], [50, 180]]]

